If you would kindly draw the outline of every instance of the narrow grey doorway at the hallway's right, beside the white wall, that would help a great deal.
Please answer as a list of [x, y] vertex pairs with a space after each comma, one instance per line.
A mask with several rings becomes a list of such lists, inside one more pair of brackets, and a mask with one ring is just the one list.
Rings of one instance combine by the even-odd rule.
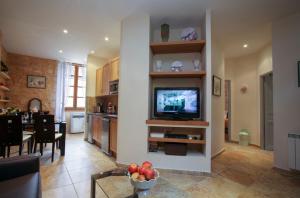
[[273, 73], [262, 76], [262, 133], [261, 145], [273, 151]]

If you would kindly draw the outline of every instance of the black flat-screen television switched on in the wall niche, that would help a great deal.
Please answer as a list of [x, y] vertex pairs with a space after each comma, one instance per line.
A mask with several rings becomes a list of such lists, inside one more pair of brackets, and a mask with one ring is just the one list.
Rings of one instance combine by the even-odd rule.
[[197, 87], [154, 89], [154, 116], [168, 119], [200, 117], [200, 90]]

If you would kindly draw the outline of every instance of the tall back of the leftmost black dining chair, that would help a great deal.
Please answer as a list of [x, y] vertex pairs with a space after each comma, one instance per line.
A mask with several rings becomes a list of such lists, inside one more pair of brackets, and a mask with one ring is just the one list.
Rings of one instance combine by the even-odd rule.
[[21, 115], [0, 116], [0, 141], [6, 145], [20, 145], [23, 141]]

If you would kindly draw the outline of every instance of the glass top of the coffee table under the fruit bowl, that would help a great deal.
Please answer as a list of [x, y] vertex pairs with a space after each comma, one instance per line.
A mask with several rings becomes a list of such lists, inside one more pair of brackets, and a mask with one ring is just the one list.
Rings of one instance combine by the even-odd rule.
[[[133, 197], [134, 190], [127, 176], [110, 176], [98, 179], [96, 183], [109, 198]], [[188, 195], [163, 177], [160, 177], [154, 188], [149, 191], [138, 192], [138, 197], [185, 198]]]

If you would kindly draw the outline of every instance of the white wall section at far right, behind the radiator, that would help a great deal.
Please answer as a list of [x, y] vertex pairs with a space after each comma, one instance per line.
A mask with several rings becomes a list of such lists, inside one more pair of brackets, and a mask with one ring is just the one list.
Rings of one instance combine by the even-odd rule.
[[288, 169], [288, 133], [300, 130], [300, 13], [273, 23], [274, 166]]

